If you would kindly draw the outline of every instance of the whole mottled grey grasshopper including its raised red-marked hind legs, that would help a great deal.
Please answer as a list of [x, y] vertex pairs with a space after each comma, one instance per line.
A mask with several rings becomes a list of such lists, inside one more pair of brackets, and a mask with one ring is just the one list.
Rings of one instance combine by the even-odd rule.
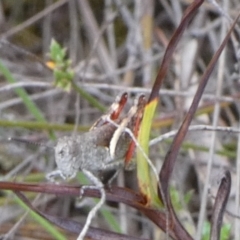
[[140, 95], [127, 116], [120, 118], [126, 97], [124, 93], [117, 98], [110, 108], [110, 114], [97, 120], [88, 132], [58, 140], [55, 147], [57, 170], [47, 175], [49, 180], [54, 180], [56, 175], [70, 179], [78, 171], [95, 174], [98, 171], [117, 170], [123, 166], [130, 170], [134, 166], [129, 164], [134, 145], [126, 128], [137, 135], [146, 100], [144, 95]]

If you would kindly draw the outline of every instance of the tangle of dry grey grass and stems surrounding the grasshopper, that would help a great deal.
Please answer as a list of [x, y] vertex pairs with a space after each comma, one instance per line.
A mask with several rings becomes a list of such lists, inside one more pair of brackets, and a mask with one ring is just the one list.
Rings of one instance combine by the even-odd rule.
[[[83, 224], [95, 205], [92, 197], [99, 197], [97, 191], [90, 191], [91, 198], [77, 206], [77, 188], [68, 187], [79, 181], [86, 184], [82, 176], [65, 184], [66, 188], [61, 184], [48, 188], [45, 174], [55, 168], [53, 151], [7, 139], [53, 146], [60, 136], [86, 131], [119, 93], [127, 91], [133, 99], [139, 93], [149, 96], [158, 90], [152, 86], [160, 63], [193, 2], [0, 2], [1, 239], [76, 239], [79, 229], [73, 220]], [[187, 19], [189, 26], [182, 26], [182, 30], [186, 27], [184, 34], [177, 33], [180, 41], [173, 55], [169, 53], [171, 63], [151, 126], [149, 158], [157, 172], [166, 162], [200, 77], [208, 73], [212, 56], [240, 12], [240, 3], [209, 0], [194, 10], [188, 9], [194, 16]], [[67, 49], [71, 63], [65, 62], [63, 68], [69, 72], [64, 78], [73, 73], [71, 86], [59, 83], [53, 73], [56, 62], [50, 56], [51, 39]], [[109, 202], [91, 224], [95, 227], [90, 229], [91, 239], [240, 239], [239, 39], [236, 25], [214, 70], [206, 76], [207, 86], [191, 126], [187, 126], [174, 170], [168, 172], [171, 201], [165, 196], [167, 210], [144, 203], [136, 171], [121, 172], [112, 189], [106, 190]], [[130, 101], [127, 108], [131, 105]], [[162, 171], [160, 180], [163, 175]], [[13, 185], [6, 185], [11, 182]], [[14, 185], [20, 183], [25, 190]], [[27, 191], [27, 187], [31, 189]], [[21, 190], [27, 192], [22, 195]], [[165, 191], [158, 194], [164, 198]], [[29, 213], [26, 209], [30, 207]], [[222, 225], [214, 229], [222, 215]], [[60, 222], [65, 230], [56, 227]], [[217, 233], [220, 228], [221, 236]]]

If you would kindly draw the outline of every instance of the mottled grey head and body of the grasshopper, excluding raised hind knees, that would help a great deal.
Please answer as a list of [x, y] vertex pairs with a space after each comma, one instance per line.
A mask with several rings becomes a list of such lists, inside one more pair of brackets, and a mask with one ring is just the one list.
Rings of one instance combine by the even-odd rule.
[[[83, 169], [97, 172], [123, 166], [123, 159], [131, 139], [127, 133], [122, 133], [119, 139], [120, 147], [116, 148], [116, 154], [112, 158], [108, 145], [109, 136], [115, 130], [116, 127], [110, 126], [109, 123], [78, 136], [60, 138], [55, 147], [55, 161], [58, 168], [56, 174], [60, 174], [64, 179], [70, 179]], [[54, 172], [51, 175], [55, 175]]]

